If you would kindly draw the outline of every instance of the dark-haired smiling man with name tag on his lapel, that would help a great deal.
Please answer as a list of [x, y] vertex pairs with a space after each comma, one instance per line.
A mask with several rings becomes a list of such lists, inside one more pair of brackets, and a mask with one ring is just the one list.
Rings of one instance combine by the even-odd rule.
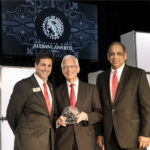
[[[15, 135], [14, 150], [54, 150], [54, 94], [47, 81], [53, 59], [40, 52], [35, 60], [36, 72], [16, 83], [7, 108], [7, 120]], [[43, 83], [49, 95], [48, 109]]]

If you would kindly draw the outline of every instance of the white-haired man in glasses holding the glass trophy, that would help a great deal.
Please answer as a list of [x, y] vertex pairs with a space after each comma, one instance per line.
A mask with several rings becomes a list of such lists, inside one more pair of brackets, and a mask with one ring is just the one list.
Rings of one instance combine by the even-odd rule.
[[[56, 129], [56, 150], [95, 150], [95, 124], [101, 116], [101, 104], [97, 87], [80, 81], [77, 74], [80, 71], [78, 59], [67, 55], [62, 60], [62, 72], [66, 83], [60, 85], [55, 92], [58, 128]], [[77, 123], [67, 125], [66, 117], [62, 116], [65, 107], [70, 106], [70, 84], [74, 84], [76, 106], [80, 114]]]

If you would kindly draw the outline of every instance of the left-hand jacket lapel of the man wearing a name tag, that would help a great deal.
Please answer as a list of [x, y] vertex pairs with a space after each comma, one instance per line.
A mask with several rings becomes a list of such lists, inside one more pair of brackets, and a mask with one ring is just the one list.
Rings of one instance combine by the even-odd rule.
[[[38, 82], [36, 81], [34, 75], [31, 76], [31, 82], [32, 82], [32, 85], [33, 85], [32, 88], [37, 88], [37, 87], [40, 88], [40, 86], [39, 86]], [[37, 96], [37, 100], [40, 101], [41, 106], [44, 107], [46, 113], [49, 115], [48, 108], [47, 108], [47, 105], [46, 105], [45, 98], [44, 98], [44, 95], [42, 93], [42, 90], [39, 91], [39, 92], [36, 92], [35, 95]]]

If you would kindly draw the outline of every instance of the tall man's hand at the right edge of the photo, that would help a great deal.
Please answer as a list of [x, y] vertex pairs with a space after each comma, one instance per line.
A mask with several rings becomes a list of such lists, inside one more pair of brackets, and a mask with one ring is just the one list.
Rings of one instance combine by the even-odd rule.
[[146, 148], [146, 147], [150, 146], [150, 138], [149, 137], [139, 136], [138, 142], [139, 142], [139, 148]]

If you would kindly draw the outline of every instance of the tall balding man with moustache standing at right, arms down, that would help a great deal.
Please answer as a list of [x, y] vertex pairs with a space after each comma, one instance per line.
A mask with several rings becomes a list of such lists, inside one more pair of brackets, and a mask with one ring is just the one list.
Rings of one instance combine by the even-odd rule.
[[[98, 144], [102, 150], [146, 148], [150, 144], [150, 88], [146, 74], [125, 65], [127, 54], [120, 42], [110, 45], [107, 57], [111, 68], [97, 77], [103, 108]], [[119, 84], [113, 100], [115, 71]]]

